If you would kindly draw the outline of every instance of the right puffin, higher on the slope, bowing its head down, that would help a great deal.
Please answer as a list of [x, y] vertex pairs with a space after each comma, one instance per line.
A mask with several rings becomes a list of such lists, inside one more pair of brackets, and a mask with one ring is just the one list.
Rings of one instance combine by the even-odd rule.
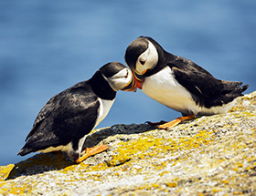
[[125, 62], [133, 71], [136, 87], [182, 117], [149, 124], [172, 129], [188, 119], [228, 112], [249, 85], [213, 77], [185, 57], [166, 52], [153, 38], [140, 36], [126, 48]]

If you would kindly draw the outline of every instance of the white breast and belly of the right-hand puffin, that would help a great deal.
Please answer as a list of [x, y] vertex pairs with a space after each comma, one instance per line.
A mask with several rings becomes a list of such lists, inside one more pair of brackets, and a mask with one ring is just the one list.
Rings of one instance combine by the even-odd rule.
[[199, 108], [186, 88], [181, 86], [170, 67], [165, 67], [153, 76], [146, 77], [144, 94], [176, 111], [189, 111], [197, 114]]

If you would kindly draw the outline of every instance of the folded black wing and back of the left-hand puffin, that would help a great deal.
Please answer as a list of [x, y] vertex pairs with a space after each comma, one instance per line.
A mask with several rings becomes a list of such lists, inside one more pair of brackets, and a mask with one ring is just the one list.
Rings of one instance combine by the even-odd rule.
[[67, 145], [76, 150], [79, 140], [95, 126], [100, 102], [87, 82], [81, 82], [50, 98], [41, 109], [18, 154]]

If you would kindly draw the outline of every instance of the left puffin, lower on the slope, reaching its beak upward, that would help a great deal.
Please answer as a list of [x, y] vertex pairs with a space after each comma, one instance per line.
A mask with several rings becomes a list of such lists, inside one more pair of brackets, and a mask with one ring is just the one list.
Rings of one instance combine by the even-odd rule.
[[82, 147], [91, 130], [107, 116], [119, 89], [136, 90], [133, 74], [123, 64], [110, 62], [89, 80], [81, 81], [50, 98], [38, 113], [27, 135], [27, 142], [17, 155], [60, 150], [75, 163], [80, 163], [107, 150], [108, 145], [84, 151]]

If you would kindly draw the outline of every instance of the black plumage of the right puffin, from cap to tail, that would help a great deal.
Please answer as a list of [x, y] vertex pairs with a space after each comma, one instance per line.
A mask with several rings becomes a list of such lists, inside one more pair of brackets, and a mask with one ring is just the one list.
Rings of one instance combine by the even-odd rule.
[[[134, 40], [126, 49], [125, 61], [132, 70], [136, 70], [138, 57], [147, 50], [150, 41], [157, 50], [157, 64], [152, 69], [148, 69], [143, 75], [134, 71], [134, 75], [139, 80], [151, 77], [165, 67], [172, 69], [177, 82], [191, 94], [191, 97], [199, 107], [212, 108], [222, 106], [242, 96], [242, 92], [249, 86], [241, 86], [241, 82], [225, 81], [213, 77], [203, 67], [185, 57], [175, 56], [165, 51], [153, 38], [141, 36]], [[144, 63], [144, 62], [143, 62]], [[143, 66], [143, 65], [142, 65]], [[191, 114], [189, 108], [181, 111], [183, 115]]]

